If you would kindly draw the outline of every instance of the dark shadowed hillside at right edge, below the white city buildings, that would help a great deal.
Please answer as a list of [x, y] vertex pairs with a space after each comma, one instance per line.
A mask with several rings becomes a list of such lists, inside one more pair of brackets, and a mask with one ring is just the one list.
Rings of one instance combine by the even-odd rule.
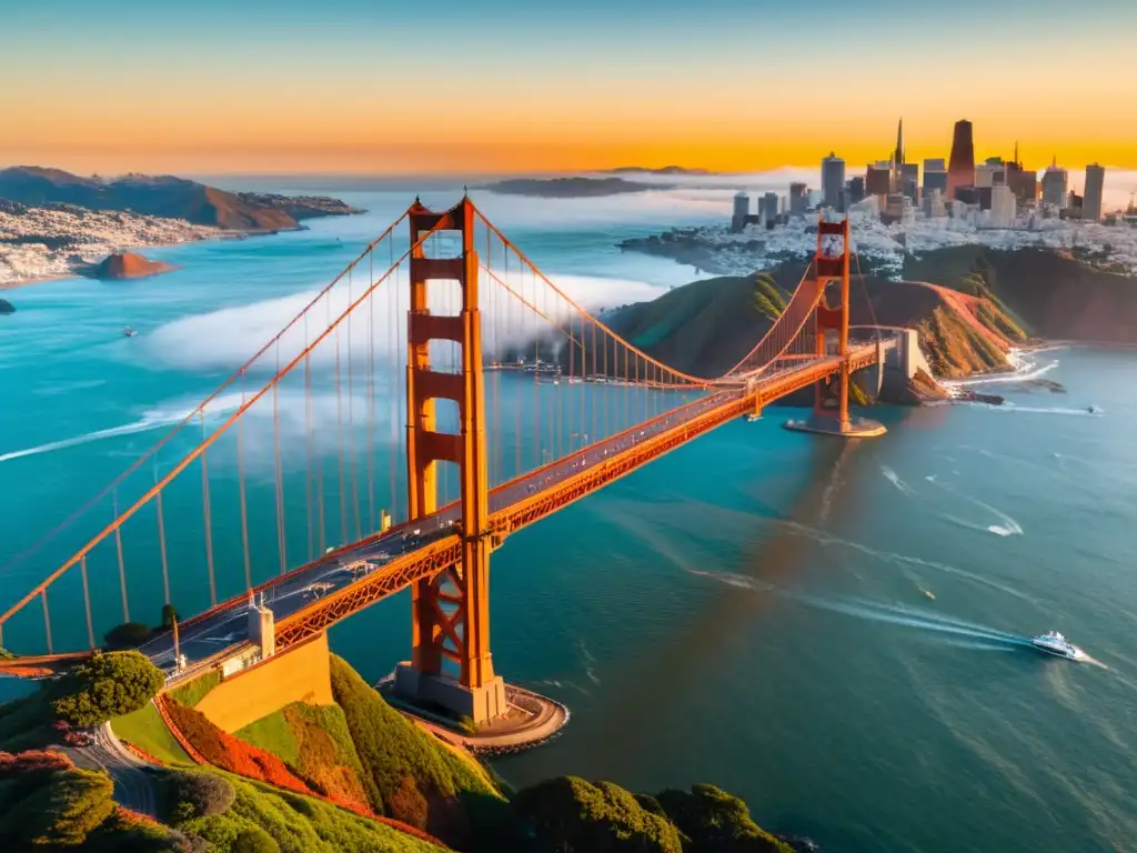
[[1079, 252], [982, 246], [907, 256], [904, 276], [972, 292], [974, 276], [1029, 332], [1044, 338], [1137, 342], [1137, 279]]

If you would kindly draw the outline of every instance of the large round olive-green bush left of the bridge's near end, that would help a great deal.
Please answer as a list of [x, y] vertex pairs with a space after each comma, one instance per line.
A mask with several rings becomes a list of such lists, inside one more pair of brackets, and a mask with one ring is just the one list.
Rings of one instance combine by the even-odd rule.
[[60, 685], [56, 717], [74, 726], [101, 726], [138, 711], [161, 689], [165, 676], [138, 652], [96, 654]]

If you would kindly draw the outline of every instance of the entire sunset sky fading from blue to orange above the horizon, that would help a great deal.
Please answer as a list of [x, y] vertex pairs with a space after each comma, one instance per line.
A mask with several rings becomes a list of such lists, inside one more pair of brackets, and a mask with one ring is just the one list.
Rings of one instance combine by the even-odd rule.
[[40, 0], [0, 11], [0, 165], [1137, 167], [1137, 0]]

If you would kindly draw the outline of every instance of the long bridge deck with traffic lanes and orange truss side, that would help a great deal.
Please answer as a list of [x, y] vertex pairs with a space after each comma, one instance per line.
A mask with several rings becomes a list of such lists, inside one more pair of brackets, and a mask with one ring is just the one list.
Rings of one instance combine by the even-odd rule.
[[[868, 351], [870, 349], [871, 353]], [[875, 362], [875, 347], [862, 347], [853, 354], [854, 365], [872, 364]], [[761, 381], [749, 390], [733, 387], [712, 391], [698, 400], [665, 412], [504, 483], [489, 495], [491, 528], [504, 537], [662, 456], [673, 447], [745, 414], [753, 407], [755, 396], [765, 405], [815, 382], [819, 378], [832, 374], [839, 365], [840, 359], [836, 356], [780, 364], [765, 372]], [[658, 446], [658, 449], [653, 446]], [[625, 462], [628, 464], [624, 464]], [[609, 470], [612, 470], [611, 477], [603, 477]], [[599, 478], [596, 477], [598, 471], [601, 473]], [[597, 482], [582, 487], [578, 490], [579, 494], [573, 495], [572, 489], [567, 487], [574, 481], [588, 479], [586, 474], [591, 474], [590, 479]], [[567, 494], [563, 499], [542, 502], [547, 496], [556, 497], [557, 492]], [[543, 511], [537, 506], [541, 503], [548, 505]], [[532, 507], [528, 516], [524, 513], [525, 507]], [[322, 630], [349, 613], [409, 586], [421, 577], [430, 577], [445, 565], [455, 562], [455, 556], [460, 555], [462, 540], [455, 531], [459, 515], [460, 506], [455, 502], [418, 521], [400, 524], [358, 544], [332, 550], [316, 562], [257, 587], [255, 591], [258, 594], [258, 601], [263, 594], [265, 605], [273, 611], [277, 629], [277, 648]], [[431, 565], [413, 566], [409, 572], [401, 571], [405, 564], [416, 562], [413, 557], [418, 552], [434, 554], [437, 561]], [[368, 561], [375, 568], [366, 574], [357, 575], [347, 565], [358, 561]], [[371, 583], [368, 579], [377, 582]], [[313, 589], [313, 585], [327, 586]], [[330, 613], [326, 618], [319, 618], [319, 612], [329, 608], [334, 599], [349, 597], [355, 588], [367, 586], [376, 587], [374, 595], [360, 603], [345, 604], [340, 614]], [[181, 652], [186, 656], [189, 665], [192, 668], [194, 662], [247, 643], [247, 613], [248, 596], [239, 596], [183, 622], [180, 631]], [[301, 623], [305, 622], [306, 614], [312, 613], [316, 613], [317, 618], [310, 628], [306, 628]], [[307, 621], [313, 622], [310, 616]], [[173, 671], [174, 653], [171, 635], [156, 637], [141, 646], [140, 651], [167, 672]]]

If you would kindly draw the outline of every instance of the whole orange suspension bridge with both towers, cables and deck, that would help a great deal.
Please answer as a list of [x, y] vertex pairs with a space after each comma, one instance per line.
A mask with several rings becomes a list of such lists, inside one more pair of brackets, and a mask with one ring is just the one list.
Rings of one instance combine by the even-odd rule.
[[489, 564], [511, 533], [811, 384], [797, 426], [883, 432], [848, 411], [852, 374], [893, 346], [879, 330], [849, 339], [850, 257], [848, 221], [820, 220], [773, 325], [723, 375], [696, 376], [586, 310], [468, 198], [445, 212], [416, 199], [52, 531], [85, 541], [0, 614], [0, 645], [23, 653], [0, 670], [67, 663], [132, 613], [176, 604], [198, 612], [140, 647], [174, 682], [410, 588], [397, 684], [445, 682], [431, 695], [492, 718], [506, 698]]

